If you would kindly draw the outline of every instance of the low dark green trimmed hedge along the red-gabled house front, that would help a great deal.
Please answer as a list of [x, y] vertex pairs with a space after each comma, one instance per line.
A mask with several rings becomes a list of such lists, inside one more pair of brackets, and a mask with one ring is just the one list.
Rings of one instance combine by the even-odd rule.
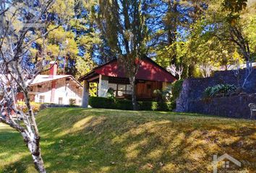
[[[139, 110], [173, 110], [173, 102], [137, 102]], [[132, 110], [132, 101], [126, 99], [111, 99], [106, 97], [90, 97], [89, 105], [93, 108], [116, 110]]]

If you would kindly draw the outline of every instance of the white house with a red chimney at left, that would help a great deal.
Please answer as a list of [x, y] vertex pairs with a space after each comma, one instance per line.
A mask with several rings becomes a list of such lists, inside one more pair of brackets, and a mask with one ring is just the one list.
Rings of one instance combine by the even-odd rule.
[[[82, 85], [72, 75], [57, 75], [57, 64], [51, 62], [49, 75], [38, 75], [30, 84], [30, 99], [34, 102], [69, 105], [82, 104]], [[22, 99], [18, 97], [17, 99]]]

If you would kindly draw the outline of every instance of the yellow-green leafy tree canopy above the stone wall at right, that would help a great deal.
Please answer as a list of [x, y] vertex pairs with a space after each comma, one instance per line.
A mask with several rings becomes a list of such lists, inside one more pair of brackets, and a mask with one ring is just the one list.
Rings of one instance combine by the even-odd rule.
[[[248, 35], [245, 32], [249, 25], [245, 24], [242, 18], [236, 17], [232, 23], [230, 12], [224, 11], [220, 6], [221, 1], [210, 2], [205, 15], [192, 25], [193, 32], [187, 37], [187, 59], [190, 61], [187, 64], [195, 63], [200, 67], [202, 76], [208, 76], [209, 73], [206, 75], [206, 71], [216, 70], [219, 66], [227, 68], [234, 64], [237, 61], [234, 58], [236, 53], [242, 55], [244, 61], [251, 59], [248, 58], [251, 57], [249, 54], [252, 52], [249, 47], [253, 42], [248, 38], [253, 37], [254, 34], [251, 32]], [[241, 14], [240, 12], [237, 15]], [[252, 12], [249, 16], [253, 16]], [[234, 30], [237, 31], [236, 35]], [[236, 57], [242, 62], [241, 56]]]

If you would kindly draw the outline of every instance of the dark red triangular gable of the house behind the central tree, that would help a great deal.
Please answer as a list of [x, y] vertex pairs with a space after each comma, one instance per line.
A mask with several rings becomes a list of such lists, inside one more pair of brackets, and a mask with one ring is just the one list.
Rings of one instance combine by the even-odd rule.
[[[120, 78], [127, 78], [124, 73], [123, 68], [121, 68], [119, 62], [115, 59], [102, 66], [98, 66], [93, 71], [96, 74], [101, 74], [103, 76], [113, 76]], [[85, 78], [83, 76], [81, 79]], [[158, 66], [157, 63], [150, 60], [149, 58], [143, 58], [141, 60], [139, 71], [137, 72], [136, 79], [147, 80], [147, 81], [176, 81], [176, 78], [170, 74], [166, 69]]]

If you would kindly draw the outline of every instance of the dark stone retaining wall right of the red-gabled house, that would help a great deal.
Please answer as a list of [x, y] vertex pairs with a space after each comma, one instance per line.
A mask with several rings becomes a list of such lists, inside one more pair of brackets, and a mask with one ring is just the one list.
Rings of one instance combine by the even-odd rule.
[[[256, 70], [247, 80], [244, 92], [247, 94], [234, 97], [213, 98], [206, 102], [202, 98], [203, 92], [208, 86], [216, 84], [242, 85], [245, 71], [234, 75], [234, 71], [217, 71], [212, 77], [186, 79], [182, 86], [182, 92], [176, 100], [177, 112], [197, 112], [209, 115], [223, 115], [228, 117], [249, 117], [249, 102], [256, 103]], [[208, 100], [209, 101], [209, 100]], [[234, 105], [234, 106], [233, 106]]]

